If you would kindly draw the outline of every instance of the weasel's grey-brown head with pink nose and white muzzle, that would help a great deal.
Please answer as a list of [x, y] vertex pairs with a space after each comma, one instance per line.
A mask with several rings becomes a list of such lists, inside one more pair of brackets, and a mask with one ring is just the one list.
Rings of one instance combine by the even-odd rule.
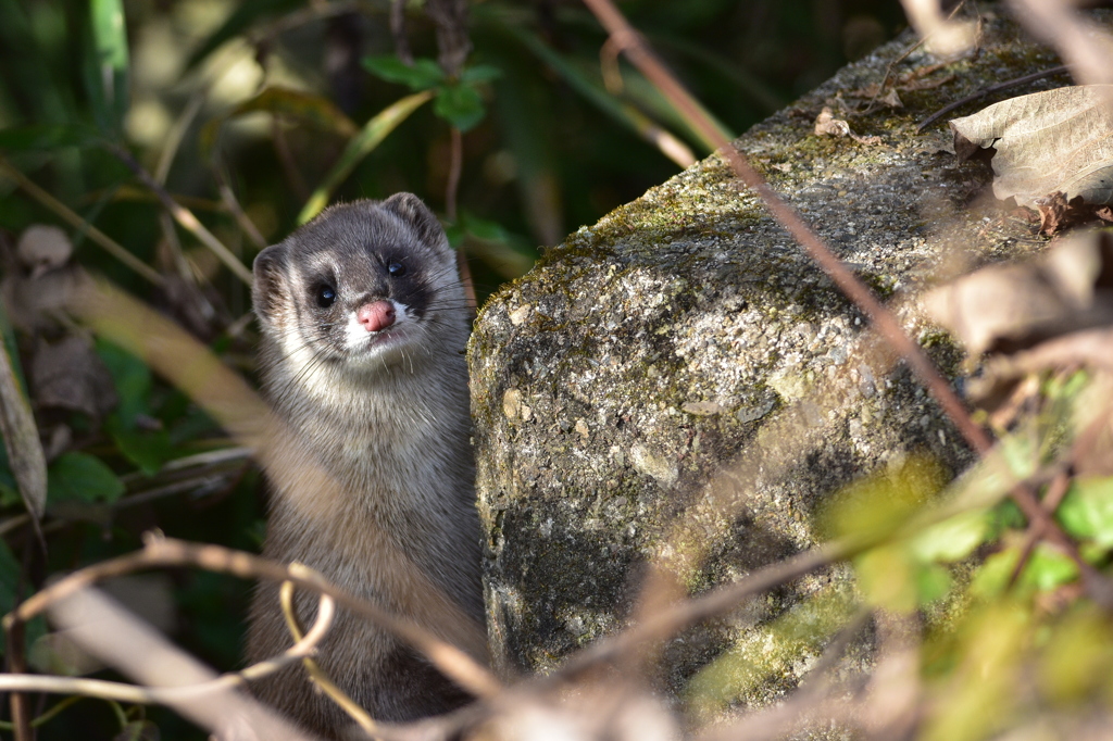
[[413, 372], [467, 339], [455, 253], [412, 194], [333, 206], [267, 247], [252, 299], [266, 362], [306, 382]]

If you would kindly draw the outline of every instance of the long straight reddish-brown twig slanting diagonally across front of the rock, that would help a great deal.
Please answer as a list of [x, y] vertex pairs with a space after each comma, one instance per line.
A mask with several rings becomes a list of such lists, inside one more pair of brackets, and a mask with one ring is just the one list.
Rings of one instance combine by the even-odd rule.
[[[896, 315], [881, 304], [846, 264], [831, 253], [819, 236], [805, 224], [799, 214], [769, 187], [757, 170], [750, 167], [746, 157], [719, 134], [711, 119], [702, 115], [700, 106], [691, 95], [649, 51], [641, 37], [614, 7], [613, 2], [611, 0], [584, 0], [584, 3], [608, 30], [614, 42], [626, 52], [630, 61], [681, 115], [691, 120], [701, 136], [713, 142], [716, 149], [726, 158], [738, 178], [761, 198], [777, 223], [819, 264], [847, 298], [869, 317], [881, 336], [905, 358], [905, 362], [919, 377], [920, 383], [927, 387], [928, 393], [932, 394], [943, 408], [944, 414], [951, 418], [971, 447], [979, 455], [987, 453], [993, 445], [989, 435], [974, 423], [951, 384], [938, 372], [924, 349], [904, 330]], [[1040, 522], [1047, 535], [1061, 545], [1078, 565], [1091, 595], [1103, 604], [1113, 603], [1113, 587], [1082, 559], [1077, 544], [1044, 512], [1035, 495], [1026, 487], [1018, 486], [1013, 491], [1012, 497], [1024, 516], [1030, 521]]]

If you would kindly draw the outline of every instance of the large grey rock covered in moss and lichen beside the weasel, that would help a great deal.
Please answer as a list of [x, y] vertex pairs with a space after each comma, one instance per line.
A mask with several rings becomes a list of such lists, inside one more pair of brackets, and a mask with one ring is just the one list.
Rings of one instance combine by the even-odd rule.
[[[916, 131], [952, 100], [1057, 63], [986, 20], [981, 53], [898, 87], [903, 108], [844, 115], [880, 144], [819, 137], [814, 121], [825, 105], [840, 115], [836, 98], [865, 109], [856, 93], [881, 82], [907, 36], [736, 142], [952, 377], [959, 353], [907, 297], [1044, 241], [986, 195], [984, 165], [955, 164], [945, 121]], [[892, 73], [935, 61], [916, 50]], [[621, 629], [648, 562], [701, 593], [812, 545], [817, 511], [849, 482], [909, 460], [951, 473], [971, 461], [904, 364], [717, 156], [548, 250], [483, 307], [470, 357], [492, 649], [510, 672], [544, 672]], [[715, 664], [733, 682], [723, 700], [775, 699], [853, 590], [834, 567], [689, 631], [662, 654], [662, 685], [696, 696], [706, 668], [736, 656]], [[776, 629], [786, 624], [814, 630]], [[855, 655], [866, 665], [868, 645]]]

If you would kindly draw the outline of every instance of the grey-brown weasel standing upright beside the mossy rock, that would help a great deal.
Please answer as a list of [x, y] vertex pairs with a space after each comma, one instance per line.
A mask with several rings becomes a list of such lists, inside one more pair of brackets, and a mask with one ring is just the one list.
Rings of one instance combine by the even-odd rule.
[[[485, 661], [464, 358], [470, 308], [440, 223], [412, 194], [333, 206], [260, 251], [254, 271], [263, 391], [286, 432], [273, 454], [295, 472], [270, 476], [263, 554], [315, 569]], [[303, 626], [316, 604], [315, 594], [298, 592]], [[292, 641], [277, 585], [260, 585], [248, 660]], [[470, 699], [410, 646], [343, 609], [316, 660], [376, 721], [437, 714]], [[353, 723], [301, 665], [253, 690], [322, 735], [338, 738]]]

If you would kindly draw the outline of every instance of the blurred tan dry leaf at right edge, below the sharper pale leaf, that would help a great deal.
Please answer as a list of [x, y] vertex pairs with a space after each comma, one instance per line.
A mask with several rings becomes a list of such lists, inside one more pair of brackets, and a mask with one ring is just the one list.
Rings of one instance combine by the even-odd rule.
[[1111, 324], [1113, 234], [1082, 234], [1038, 259], [982, 268], [928, 292], [923, 306], [975, 356]]

